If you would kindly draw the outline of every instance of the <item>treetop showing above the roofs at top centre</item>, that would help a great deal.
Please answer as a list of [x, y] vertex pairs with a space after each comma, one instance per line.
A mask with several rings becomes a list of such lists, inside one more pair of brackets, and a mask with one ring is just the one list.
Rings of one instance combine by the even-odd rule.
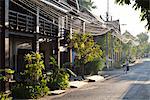
[[79, 0], [79, 5], [81, 10], [83, 9], [92, 10], [96, 8], [92, 0]]

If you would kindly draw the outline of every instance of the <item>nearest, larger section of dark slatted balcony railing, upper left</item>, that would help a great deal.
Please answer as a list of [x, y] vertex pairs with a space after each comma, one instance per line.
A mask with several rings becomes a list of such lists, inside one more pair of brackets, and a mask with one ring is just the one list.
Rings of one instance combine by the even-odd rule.
[[9, 10], [10, 29], [35, 32], [35, 17]]

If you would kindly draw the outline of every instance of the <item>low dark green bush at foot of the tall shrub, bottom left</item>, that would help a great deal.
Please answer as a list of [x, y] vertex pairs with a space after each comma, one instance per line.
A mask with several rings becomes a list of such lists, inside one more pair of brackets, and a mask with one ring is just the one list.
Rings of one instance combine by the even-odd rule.
[[15, 99], [37, 99], [48, 94], [49, 88], [45, 85], [18, 84], [12, 90]]

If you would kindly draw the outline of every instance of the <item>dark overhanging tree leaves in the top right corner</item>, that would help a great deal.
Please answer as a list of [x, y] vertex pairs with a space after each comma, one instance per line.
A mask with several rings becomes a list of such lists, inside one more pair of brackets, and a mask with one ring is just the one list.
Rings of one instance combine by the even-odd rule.
[[134, 1], [133, 8], [135, 10], [140, 9], [141, 11], [141, 21], [147, 21], [147, 28], [150, 30], [150, 1], [149, 0], [116, 0], [118, 4], [128, 4], [130, 5], [131, 2]]

